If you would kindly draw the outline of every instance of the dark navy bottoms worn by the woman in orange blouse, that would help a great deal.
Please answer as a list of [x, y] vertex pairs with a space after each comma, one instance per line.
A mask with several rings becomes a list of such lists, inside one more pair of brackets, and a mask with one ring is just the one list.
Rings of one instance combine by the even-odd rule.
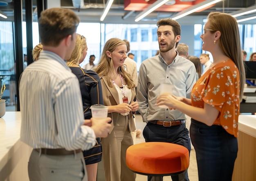
[[191, 119], [199, 181], [231, 181], [238, 152], [237, 138], [221, 125], [207, 126]]

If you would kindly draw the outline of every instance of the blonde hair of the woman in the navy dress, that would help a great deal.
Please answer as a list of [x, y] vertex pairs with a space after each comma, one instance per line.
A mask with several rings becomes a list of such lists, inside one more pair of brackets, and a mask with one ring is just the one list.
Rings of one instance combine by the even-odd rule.
[[70, 67], [73, 64], [79, 65], [79, 60], [83, 57], [83, 51], [86, 47], [86, 38], [80, 34], [76, 34], [75, 47], [72, 51], [70, 59], [68, 59], [66, 62], [67, 66]]

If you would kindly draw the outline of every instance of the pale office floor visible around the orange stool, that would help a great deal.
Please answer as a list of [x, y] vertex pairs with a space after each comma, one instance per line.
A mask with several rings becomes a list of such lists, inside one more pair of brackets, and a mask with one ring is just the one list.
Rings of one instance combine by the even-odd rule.
[[[140, 129], [141, 131], [143, 130], [143, 128], [145, 127], [146, 123], [144, 123], [142, 121], [141, 115], [140, 114], [136, 114], [135, 115], [135, 119], [136, 119], [136, 126], [137, 129]], [[189, 129], [190, 127], [190, 117], [187, 116], [187, 120], [186, 120], [186, 127]], [[145, 142], [143, 136], [141, 135], [140, 138], [136, 138], [136, 143], [143, 143]], [[189, 174], [189, 180], [190, 181], [198, 181], [198, 168], [197, 168], [197, 163], [196, 163], [196, 158], [195, 158], [195, 150], [191, 149], [190, 152], [190, 163], [189, 163], [189, 170], [188, 170], [188, 174]], [[164, 177], [164, 181], [171, 181], [171, 177], [170, 176], [166, 176]], [[136, 177], [136, 181], [147, 181], [147, 176], [145, 175], [141, 175], [141, 174], [137, 174]]]

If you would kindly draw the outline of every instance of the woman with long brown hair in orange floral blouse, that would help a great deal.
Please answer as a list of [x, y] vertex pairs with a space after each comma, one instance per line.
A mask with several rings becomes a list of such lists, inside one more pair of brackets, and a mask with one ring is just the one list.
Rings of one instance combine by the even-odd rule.
[[191, 99], [161, 95], [157, 105], [166, 105], [191, 117], [190, 136], [199, 181], [231, 181], [245, 84], [236, 18], [227, 13], [209, 13], [200, 38], [202, 49], [213, 56], [211, 68], [193, 86]]

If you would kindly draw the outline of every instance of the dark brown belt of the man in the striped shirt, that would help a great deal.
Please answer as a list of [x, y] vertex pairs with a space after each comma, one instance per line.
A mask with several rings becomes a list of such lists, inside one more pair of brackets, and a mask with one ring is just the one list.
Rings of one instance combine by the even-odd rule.
[[40, 153], [40, 150], [41, 150], [41, 154], [56, 155], [56, 156], [74, 154], [82, 151], [81, 149], [68, 151], [68, 150], [65, 150], [65, 148], [58, 148], [58, 149], [35, 148], [35, 150], [38, 153]]

